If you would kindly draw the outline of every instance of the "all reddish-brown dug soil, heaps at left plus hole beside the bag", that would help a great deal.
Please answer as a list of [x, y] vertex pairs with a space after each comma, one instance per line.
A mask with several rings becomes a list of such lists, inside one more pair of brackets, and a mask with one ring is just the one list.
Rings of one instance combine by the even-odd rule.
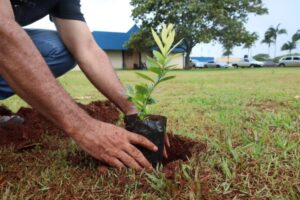
[[[120, 113], [118, 109], [110, 102], [92, 102], [89, 105], [79, 104], [92, 117], [115, 124], [119, 120]], [[10, 115], [12, 112], [5, 107], [0, 107], [0, 115]], [[8, 126], [0, 128], [0, 146], [13, 145], [16, 150], [24, 151], [36, 146], [51, 146], [52, 144], [42, 144], [43, 134], [58, 134], [61, 137], [66, 135], [53, 125], [50, 121], [40, 115], [35, 109], [21, 108], [17, 115], [25, 118], [25, 123], [18, 126]], [[206, 146], [197, 141], [193, 141], [184, 137], [169, 134], [171, 148], [168, 149], [168, 159], [163, 161], [164, 172], [167, 177], [174, 175], [175, 169], [179, 166], [179, 161], [186, 161], [193, 152], [202, 152]], [[53, 144], [54, 145], [54, 144]], [[59, 148], [59, 147], [58, 147]], [[68, 157], [69, 161], [78, 166], [90, 166], [91, 163], [98, 167], [100, 173], [106, 172], [105, 167], [99, 162], [80, 151], [75, 155]]]

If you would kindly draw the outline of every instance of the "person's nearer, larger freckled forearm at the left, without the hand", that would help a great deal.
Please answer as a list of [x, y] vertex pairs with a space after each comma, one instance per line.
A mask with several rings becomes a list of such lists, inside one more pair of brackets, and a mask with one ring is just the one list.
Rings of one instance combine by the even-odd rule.
[[58, 85], [29, 36], [9, 21], [0, 26], [0, 38], [3, 78], [32, 107], [69, 134], [75, 134], [74, 130], [82, 126], [78, 122], [87, 120], [87, 114]]

